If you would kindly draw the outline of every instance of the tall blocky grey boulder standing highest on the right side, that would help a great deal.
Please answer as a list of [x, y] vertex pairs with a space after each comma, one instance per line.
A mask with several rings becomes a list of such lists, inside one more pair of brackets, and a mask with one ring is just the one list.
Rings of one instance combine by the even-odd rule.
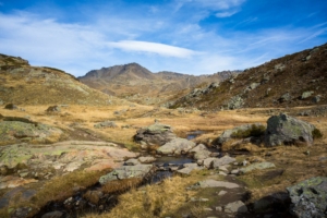
[[287, 114], [272, 116], [267, 121], [265, 133], [266, 146], [313, 143], [312, 132], [315, 126], [308, 122], [292, 118]]

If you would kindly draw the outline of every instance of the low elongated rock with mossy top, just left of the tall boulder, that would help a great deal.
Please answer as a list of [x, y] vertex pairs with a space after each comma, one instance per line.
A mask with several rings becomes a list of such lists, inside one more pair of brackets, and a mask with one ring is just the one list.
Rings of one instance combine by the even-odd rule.
[[221, 135], [214, 141], [214, 144], [222, 145], [231, 138], [259, 136], [261, 134], [264, 134], [265, 129], [265, 125], [263, 125], [262, 123], [239, 125], [231, 130], [223, 131]]

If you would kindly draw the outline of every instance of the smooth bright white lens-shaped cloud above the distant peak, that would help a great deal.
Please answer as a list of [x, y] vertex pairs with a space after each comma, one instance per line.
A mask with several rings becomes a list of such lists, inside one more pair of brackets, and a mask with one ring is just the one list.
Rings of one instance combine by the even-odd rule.
[[144, 51], [175, 58], [190, 58], [196, 53], [190, 49], [148, 41], [121, 40], [118, 43], [108, 43], [107, 45], [126, 51]]

